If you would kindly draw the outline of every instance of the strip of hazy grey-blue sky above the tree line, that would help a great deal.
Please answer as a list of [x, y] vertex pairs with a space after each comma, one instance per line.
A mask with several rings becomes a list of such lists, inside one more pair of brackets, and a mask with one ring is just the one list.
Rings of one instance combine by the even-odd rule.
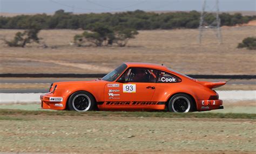
[[[0, 0], [4, 13], [201, 11], [203, 0]], [[206, 11], [214, 11], [215, 0], [206, 0]], [[219, 0], [220, 11], [255, 11], [256, 0]]]

